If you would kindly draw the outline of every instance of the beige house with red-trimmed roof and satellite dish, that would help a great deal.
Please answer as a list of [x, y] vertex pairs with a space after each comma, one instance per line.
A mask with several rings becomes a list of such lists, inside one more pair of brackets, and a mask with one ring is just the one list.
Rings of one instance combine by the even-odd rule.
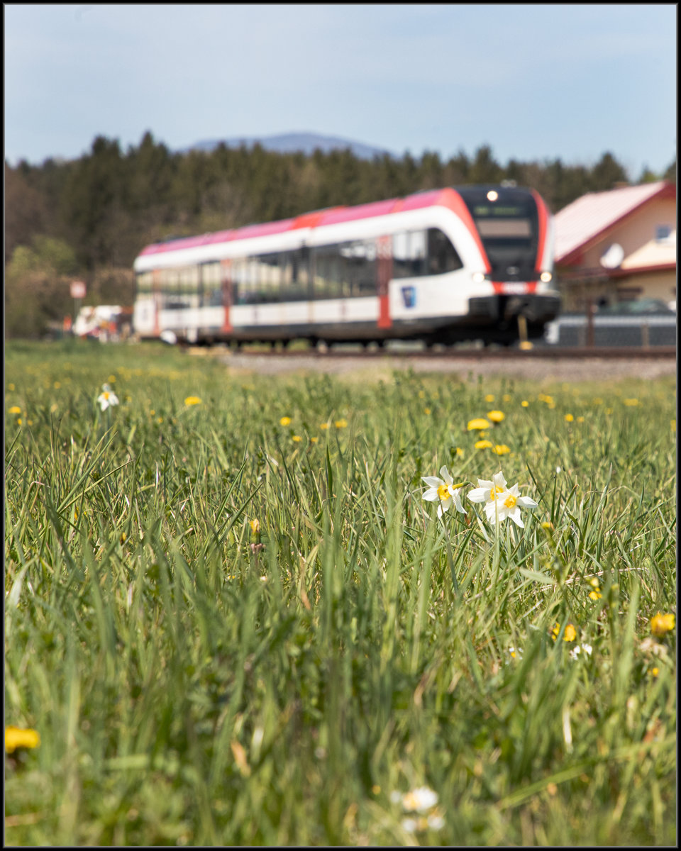
[[676, 302], [676, 186], [589, 192], [554, 216], [564, 311], [650, 298]]

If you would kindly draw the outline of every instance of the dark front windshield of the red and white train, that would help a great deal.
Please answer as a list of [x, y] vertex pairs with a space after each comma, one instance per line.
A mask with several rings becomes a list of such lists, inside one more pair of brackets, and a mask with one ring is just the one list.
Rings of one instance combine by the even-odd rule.
[[[534, 197], [518, 189], [458, 190], [466, 202], [497, 280], [537, 277], [538, 216]], [[491, 200], [489, 196], [495, 196]]]

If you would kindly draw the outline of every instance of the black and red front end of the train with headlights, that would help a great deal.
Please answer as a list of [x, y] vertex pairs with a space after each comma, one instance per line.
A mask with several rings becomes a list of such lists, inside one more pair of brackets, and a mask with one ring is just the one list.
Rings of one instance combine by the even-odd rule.
[[[516, 186], [461, 186], [483, 243], [489, 271], [473, 283], [492, 293], [469, 300], [469, 321], [489, 328], [489, 339], [539, 339], [560, 310], [552, 288], [552, 215], [538, 192]], [[494, 329], [494, 330], [492, 330]]]

